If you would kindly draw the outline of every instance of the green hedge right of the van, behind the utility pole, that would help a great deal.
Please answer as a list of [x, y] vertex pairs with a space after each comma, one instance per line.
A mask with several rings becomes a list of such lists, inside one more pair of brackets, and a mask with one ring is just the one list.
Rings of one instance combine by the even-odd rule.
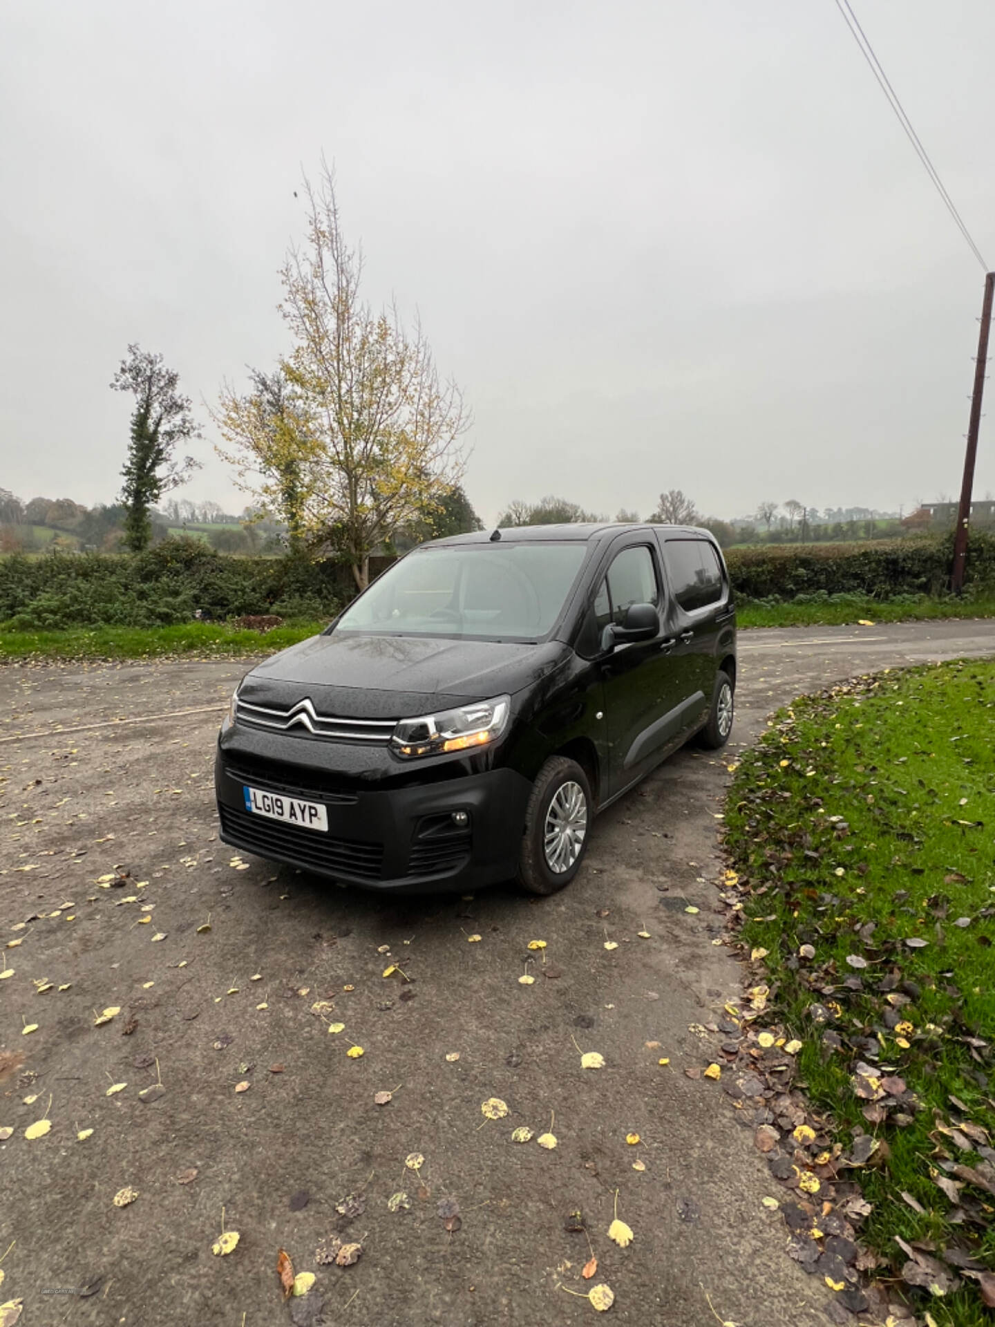
[[[731, 548], [730, 576], [742, 598], [799, 594], [939, 594], [950, 580], [953, 536], [866, 544], [779, 544]], [[972, 533], [964, 585], [995, 587], [995, 537]]]

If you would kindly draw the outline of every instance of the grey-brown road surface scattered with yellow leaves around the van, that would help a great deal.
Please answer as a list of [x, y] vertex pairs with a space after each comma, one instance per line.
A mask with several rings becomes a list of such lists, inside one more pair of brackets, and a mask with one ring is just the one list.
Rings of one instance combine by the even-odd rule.
[[[801, 691], [995, 653], [995, 622], [748, 632], [740, 650], [748, 743]], [[214, 739], [244, 667], [0, 669], [0, 942], [19, 942], [0, 949], [0, 1299], [24, 1298], [23, 1327], [559, 1327], [590, 1319], [566, 1290], [597, 1283], [642, 1327], [825, 1323], [751, 1132], [683, 1074], [739, 990], [712, 945], [730, 751], [686, 750], [608, 811], [563, 894], [390, 901], [218, 841]], [[626, 1249], [606, 1238], [616, 1190]], [[223, 1230], [240, 1241], [215, 1255]], [[358, 1261], [316, 1265], [334, 1235]], [[281, 1247], [316, 1275], [287, 1303]]]

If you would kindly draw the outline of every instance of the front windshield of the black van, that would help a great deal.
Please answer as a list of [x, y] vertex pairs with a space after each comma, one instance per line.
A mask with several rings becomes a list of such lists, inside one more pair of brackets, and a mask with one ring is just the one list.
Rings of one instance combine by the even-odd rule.
[[385, 572], [336, 630], [535, 641], [552, 630], [588, 545], [425, 548]]

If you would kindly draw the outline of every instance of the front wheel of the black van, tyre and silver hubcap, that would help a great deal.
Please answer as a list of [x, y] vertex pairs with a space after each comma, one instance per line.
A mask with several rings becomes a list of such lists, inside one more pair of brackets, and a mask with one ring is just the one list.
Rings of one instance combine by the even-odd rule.
[[569, 885], [588, 851], [593, 800], [576, 760], [551, 756], [539, 771], [525, 809], [519, 884], [531, 894], [555, 894]]

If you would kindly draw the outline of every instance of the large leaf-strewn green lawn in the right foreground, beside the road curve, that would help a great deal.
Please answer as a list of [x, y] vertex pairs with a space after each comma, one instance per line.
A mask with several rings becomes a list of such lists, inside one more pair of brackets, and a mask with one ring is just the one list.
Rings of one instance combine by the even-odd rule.
[[[945, 1164], [995, 1174], [991, 1147], [938, 1131], [968, 1121], [995, 1141], [994, 748], [995, 662], [888, 673], [783, 711], [743, 756], [728, 802], [728, 848], [748, 881], [743, 938], [768, 950], [808, 1095], [845, 1147], [862, 1131], [890, 1149], [842, 1174], [873, 1204], [861, 1238], [896, 1271], [896, 1235], [941, 1255], [957, 1243], [995, 1267], [995, 1198], [967, 1182], [955, 1206], [934, 1182], [955, 1177]], [[869, 1123], [854, 1093], [861, 1060], [914, 1096], [886, 1123]], [[929, 1307], [941, 1327], [991, 1320], [970, 1281]]]

